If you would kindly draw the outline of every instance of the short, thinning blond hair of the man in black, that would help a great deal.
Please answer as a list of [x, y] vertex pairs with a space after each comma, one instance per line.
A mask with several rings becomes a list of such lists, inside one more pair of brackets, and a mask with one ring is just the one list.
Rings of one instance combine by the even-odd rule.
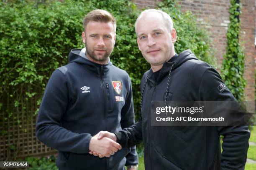
[[[144, 10], [141, 12], [141, 14], [138, 16], [136, 23], [135, 23], [135, 32], [137, 35], [137, 24], [138, 24], [138, 20], [140, 20], [144, 15], [148, 14], [148, 13], [160, 13], [164, 19], [164, 22], [166, 24], [166, 28], [168, 29], [168, 31], [171, 31], [173, 29], [173, 22], [172, 22], [172, 18], [170, 17], [170, 15], [168, 15], [167, 13], [165, 13], [164, 11], [161, 10], [156, 10], [156, 9], [148, 9], [148, 10]], [[138, 35], [137, 35], [138, 36]]]

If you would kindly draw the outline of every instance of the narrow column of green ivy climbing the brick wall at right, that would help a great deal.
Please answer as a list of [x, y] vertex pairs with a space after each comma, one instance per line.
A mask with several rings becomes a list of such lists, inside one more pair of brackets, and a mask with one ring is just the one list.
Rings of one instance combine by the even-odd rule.
[[226, 54], [223, 57], [222, 77], [225, 84], [236, 97], [237, 100], [245, 100], [244, 88], [246, 80], [243, 78], [244, 72], [244, 53], [239, 43], [239, 32], [241, 30], [241, 22], [238, 20], [241, 14], [241, 3], [236, 0], [230, 0], [230, 24], [227, 33]]

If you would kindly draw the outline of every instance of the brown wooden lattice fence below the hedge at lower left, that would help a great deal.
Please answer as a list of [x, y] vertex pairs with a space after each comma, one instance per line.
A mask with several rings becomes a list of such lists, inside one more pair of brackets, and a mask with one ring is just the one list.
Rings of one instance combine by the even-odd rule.
[[[8, 93], [7, 93], [8, 94]], [[14, 107], [12, 97], [3, 97], [6, 112], [0, 111], [0, 161], [16, 160], [27, 156], [50, 155], [56, 150], [47, 147], [36, 138], [36, 105], [40, 95], [29, 100], [20, 100], [21, 105]], [[10, 111], [11, 110], [11, 111]]]

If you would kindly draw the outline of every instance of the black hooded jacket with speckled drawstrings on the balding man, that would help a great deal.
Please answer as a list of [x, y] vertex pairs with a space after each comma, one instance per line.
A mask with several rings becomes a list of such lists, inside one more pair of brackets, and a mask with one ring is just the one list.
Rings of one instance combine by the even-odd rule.
[[141, 120], [115, 133], [117, 142], [125, 147], [143, 140], [146, 170], [243, 170], [250, 137], [247, 126], [151, 125], [151, 101], [235, 100], [228, 88], [218, 89], [223, 83], [218, 72], [190, 50], [175, 58], [164, 63], [156, 80], [152, 69], [143, 75]]

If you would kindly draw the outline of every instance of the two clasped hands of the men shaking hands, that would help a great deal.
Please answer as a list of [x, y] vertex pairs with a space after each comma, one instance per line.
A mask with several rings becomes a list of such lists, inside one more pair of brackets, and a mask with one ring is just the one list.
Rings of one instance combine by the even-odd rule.
[[90, 140], [89, 153], [100, 158], [110, 157], [120, 149], [122, 146], [116, 143], [115, 134], [108, 131], [100, 131]]

